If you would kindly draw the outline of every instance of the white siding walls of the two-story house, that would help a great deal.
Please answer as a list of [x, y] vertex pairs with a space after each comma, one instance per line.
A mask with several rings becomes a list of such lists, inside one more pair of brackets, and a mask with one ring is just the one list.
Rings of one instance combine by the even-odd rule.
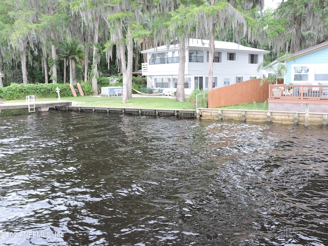
[[[219, 46], [216, 45], [215, 52], [220, 52], [220, 63], [213, 64], [213, 77], [216, 81], [215, 88], [223, 87], [224, 80], [229, 79], [230, 85], [236, 83], [236, 77], [242, 77], [243, 80], [248, 80], [250, 78], [261, 78], [263, 76], [262, 71], [258, 71], [258, 64], [263, 61], [263, 54], [269, 53], [268, 51], [253, 49], [249, 47], [238, 46], [234, 43], [221, 42], [220, 44], [224, 46], [229, 46], [230, 44], [237, 49], [220, 49]], [[240, 50], [239, 50], [240, 49]], [[248, 49], [248, 50], [242, 50]], [[175, 49], [157, 49], [157, 53], [168, 52], [176, 50]], [[189, 61], [189, 51], [200, 51], [203, 54], [203, 62], [190, 62]], [[190, 94], [193, 90], [198, 89], [195, 88], [195, 77], [202, 77], [203, 84], [200, 88], [207, 89], [208, 85], [206, 81], [209, 77], [209, 63], [208, 63], [208, 47], [186, 47], [186, 64], [185, 64], [185, 78], [190, 78], [190, 88], [185, 90], [186, 94]], [[154, 50], [148, 50], [148, 58], [150, 53], [154, 53]], [[228, 53], [235, 53], [235, 60], [228, 60]], [[256, 54], [258, 56], [256, 64], [249, 63], [249, 54]], [[178, 76], [178, 63], [174, 64], [155, 64], [148, 65], [147, 71], [142, 71], [142, 75], [146, 75], [148, 77], [148, 86], [152, 85], [155, 87], [154, 80], [155, 78], [167, 77], [173, 81], [173, 78]], [[174, 84], [171, 83], [172, 88]], [[174, 89], [174, 88], [173, 88]]]

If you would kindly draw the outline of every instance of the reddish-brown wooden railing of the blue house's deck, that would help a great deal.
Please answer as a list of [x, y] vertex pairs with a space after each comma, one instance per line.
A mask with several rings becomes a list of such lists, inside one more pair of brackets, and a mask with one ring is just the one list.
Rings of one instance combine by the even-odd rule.
[[328, 85], [269, 85], [269, 99], [328, 99]]

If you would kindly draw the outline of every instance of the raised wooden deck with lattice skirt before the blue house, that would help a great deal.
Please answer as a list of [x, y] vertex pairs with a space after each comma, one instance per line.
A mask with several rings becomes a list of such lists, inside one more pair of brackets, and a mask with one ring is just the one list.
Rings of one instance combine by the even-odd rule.
[[328, 85], [269, 85], [269, 110], [328, 113]]

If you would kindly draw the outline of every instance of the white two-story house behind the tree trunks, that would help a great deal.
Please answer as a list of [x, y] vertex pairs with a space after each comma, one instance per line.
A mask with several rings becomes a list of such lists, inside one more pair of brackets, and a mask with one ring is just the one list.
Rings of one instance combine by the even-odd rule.
[[[148, 63], [142, 64], [147, 87], [176, 90], [179, 70], [179, 44], [159, 46], [141, 51]], [[258, 65], [269, 51], [245, 47], [236, 43], [215, 41], [213, 88], [262, 78]], [[209, 77], [209, 40], [191, 38], [186, 44], [185, 93], [207, 90]]]

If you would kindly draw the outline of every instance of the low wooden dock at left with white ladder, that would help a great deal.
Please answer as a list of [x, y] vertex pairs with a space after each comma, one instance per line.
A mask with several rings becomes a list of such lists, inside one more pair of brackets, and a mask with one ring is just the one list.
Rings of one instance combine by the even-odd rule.
[[[0, 113], [5, 109], [29, 109], [31, 104], [28, 103], [0, 103]], [[70, 106], [72, 101], [36, 101], [33, 103], [33, 107], [39, 112], [48, 112], [49, 108]]]

